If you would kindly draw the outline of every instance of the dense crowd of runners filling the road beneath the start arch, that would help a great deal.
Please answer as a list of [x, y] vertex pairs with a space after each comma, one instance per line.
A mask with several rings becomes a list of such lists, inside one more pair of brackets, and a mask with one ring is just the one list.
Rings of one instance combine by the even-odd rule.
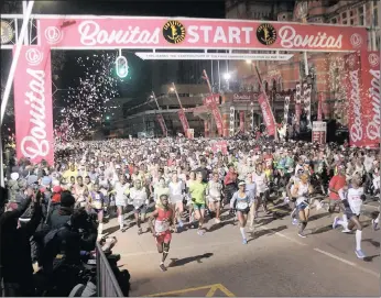
[[[334, 143], [225, 140], [227, 152], [218, 152], [214, 142], [167, 137], [56, 145], [52, 167], [44, 161], [10, 161], [9, 205], [20, 203], [20, 194], [30, 186], [50, 194], [52, 205], [59, 205], [69, 191], [75, 208], [96, 214], [98, 241], [104, 222], [113, 214], [121, 231], [137, 229], [142, 234], [149, 229], [162, 254], [162, 271], [179, 229], [195, 229], [203, 236], [207, 221], [224, 224], [230, 216], [248, 244], [246, 229], [253, 230], [258, 217], [276, 218], [270, 203], [287, 206], [301, 238], [307, 236], [312, 207], [337, 212], [333, 229], [356, 230], [353, 251], [359, 258], [366, 256], [359, 216], [363, 201], [380, 192], [378, 151]], [[129, 228], [129, 210], [137, 228]], [[372, 223], [378, 229], [379, 217]]]

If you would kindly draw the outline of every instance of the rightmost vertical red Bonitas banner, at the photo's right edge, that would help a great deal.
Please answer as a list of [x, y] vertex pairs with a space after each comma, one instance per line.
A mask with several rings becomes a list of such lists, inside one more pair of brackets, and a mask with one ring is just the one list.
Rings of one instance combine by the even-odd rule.
[[361, 53], [363, 146], [380, 146], [380, 52]]

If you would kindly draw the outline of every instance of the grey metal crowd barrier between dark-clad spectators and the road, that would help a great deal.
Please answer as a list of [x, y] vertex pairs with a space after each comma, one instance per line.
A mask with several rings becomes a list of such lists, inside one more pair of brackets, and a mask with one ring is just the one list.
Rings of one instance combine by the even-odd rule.
[[123, 297], [118, 280], [100, 246], [96, 244], [97, 254], [97, 296], [98, 297]]

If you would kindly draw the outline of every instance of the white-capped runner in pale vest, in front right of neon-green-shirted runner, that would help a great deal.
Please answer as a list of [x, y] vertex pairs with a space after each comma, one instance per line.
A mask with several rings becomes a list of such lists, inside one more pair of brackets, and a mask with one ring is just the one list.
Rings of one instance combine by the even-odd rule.
[[244, 233], [244, 227], [248, 221], [248, 214], [252, 205], [253, 197], [246, 191], [246, 183], [240, 181], [238, 184], [238, 191], [232, 195], [230, 201], [230, 209], [237, 210], [237, 218], [239, 221], [239, 230], [242, 235], [242, 243], [248, 244], [248, 240]]

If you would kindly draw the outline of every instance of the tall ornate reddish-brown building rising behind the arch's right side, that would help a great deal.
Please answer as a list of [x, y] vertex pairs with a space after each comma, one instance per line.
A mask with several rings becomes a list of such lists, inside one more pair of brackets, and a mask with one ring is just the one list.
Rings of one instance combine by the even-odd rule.
[[[378, 2], [373, 1], [250, 1], [227, 0], [228, 19], [265, 21], [294, 21], [307, 23], [330, 23], [333, 25], [367, 26], [369, 32], [368, 49], [380, 51], [380, 27]], [[287, 62], [258, 62], [265, 88], [284, 92], [295, 89], [305, 79], [303, 53], [293, 52]], [[335, 118], [346, 124], [346, 95], [342, 88], [342, 53], [308, 53], [308, 73], [313, 77], [313, 98], [323, 97], [325, 118]], [[241, 89], [259, 88], [251, 64], [233, 63], [236, 79]], [[315, 98], [314, 98], [315, 97]]]

